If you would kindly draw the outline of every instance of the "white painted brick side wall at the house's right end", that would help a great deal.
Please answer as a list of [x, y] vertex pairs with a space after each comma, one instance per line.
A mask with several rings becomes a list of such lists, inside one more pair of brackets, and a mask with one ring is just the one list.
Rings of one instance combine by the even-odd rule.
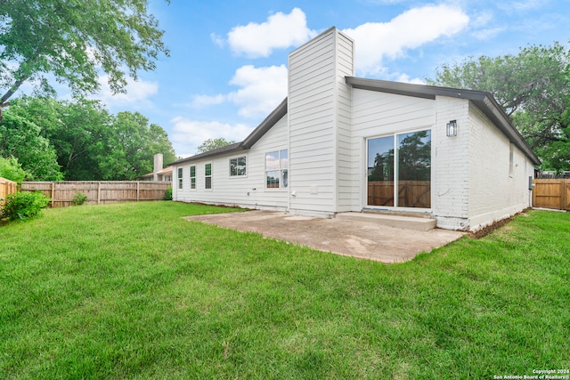
[[476, 230], [530, 206], [533, 164], [479, 109], [469, 108], [469, 229]]

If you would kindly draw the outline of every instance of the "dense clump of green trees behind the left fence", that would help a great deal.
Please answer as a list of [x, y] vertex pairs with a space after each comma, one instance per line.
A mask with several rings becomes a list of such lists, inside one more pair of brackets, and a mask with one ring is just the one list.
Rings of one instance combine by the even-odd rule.
[[[167, 162], [176, 159], [162, 127], [149, 125], [139, 113], [110, 115], [99, 101], [23, 97], [12, 101], [5, 114], [0, 128], [9, 121], [9, 115], [20, 117], [20, 123], [29, 123], [28, 132], [39, 135], [56, 152], [56, 163], [65, 180], [134, 180], [152, 171], [155, 153], [163, 153]], [[22, 143], [32, 142], [38, 141], [28, 138]], [[5, 154], [0, 150], [0, 156]], [[22, 150], [13, 155], [22, 164], [28, 159], [23, 159], [26, 154]]]

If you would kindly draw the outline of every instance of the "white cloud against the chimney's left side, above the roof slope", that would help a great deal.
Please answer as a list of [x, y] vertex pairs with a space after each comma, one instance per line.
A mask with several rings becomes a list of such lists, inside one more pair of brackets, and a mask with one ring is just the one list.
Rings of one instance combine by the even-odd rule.
[[230, 93], [228, 99], [240, 107], [238, 114], [242, 117], [267, 116], [287, 96], [287, 77], [285, 65], [243, 66], [236, 70], [230, 82], [241, 88]]

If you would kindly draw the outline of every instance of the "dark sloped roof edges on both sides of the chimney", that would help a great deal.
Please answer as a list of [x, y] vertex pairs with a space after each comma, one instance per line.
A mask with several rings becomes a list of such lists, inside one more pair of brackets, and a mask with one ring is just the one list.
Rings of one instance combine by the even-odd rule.
[[[436, 99], [436, 96], [448, 96], [452, 98], [467, 99], [475, 104], [487, 117], [493, 121], [494, 125], [504, 133], [509, 140], [514, 143], [525, 155], [533, 161], [534, 165], [541, 165], [541, 160], [534, 154], [531, 147], [526, 143], [523, 136], [518, 133], [517, 128], [510, 122], [509, 117], [501, 109], [501, 106], [495, 101], [491, 93], [485, 93], [475, 90], [460, 90], [450, 87], [439, 87], [435, 85], [412, 85], [401, 82], [390, 82], [379, 79], [365, 79], [359, 77], [346, 77], [346, 84], [354, 88], [362, 90], [378, 91], [381, 93], [395, 93], [398, 95], [413, 96], [425, 99]], [[170, 166], [177, 164], [199, 161], [204, 158], [214, 158], [228, 153], [239, 152], [240, 150], [248, 150], [256, 143], [267, 131], [269, 131], [281, 117], [287, 114], [287, 98], [281, 101], [281, 104], [273, 109], [273, 112], [265, 117], [265, 120], [257, 125], [256, 129], [249, 133], [244, 141], [236, 142], [231, 145], [218, 148], [216, 150], [208, 150], [204, 153], [183, 158], [175, 161]]]

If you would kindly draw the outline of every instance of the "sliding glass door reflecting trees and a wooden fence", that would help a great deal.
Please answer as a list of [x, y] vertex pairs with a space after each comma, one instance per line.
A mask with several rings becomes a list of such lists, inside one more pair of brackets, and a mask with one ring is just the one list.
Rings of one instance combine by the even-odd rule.
[[431, 207], [431, 131], [368, 139], [368, 206]]

